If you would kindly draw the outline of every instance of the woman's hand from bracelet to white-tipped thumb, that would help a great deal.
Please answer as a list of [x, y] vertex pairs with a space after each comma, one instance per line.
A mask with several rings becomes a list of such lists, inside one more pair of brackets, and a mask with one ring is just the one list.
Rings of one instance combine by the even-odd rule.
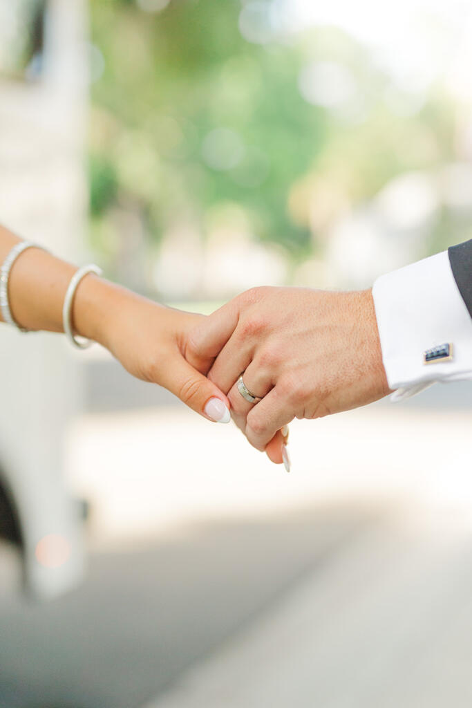
[[229, 423], [229, 401], [206, 378], [211, 362], [185, 360], [188, 333], [202, 315], [163, 307], [93, 275], [78, 287], [74, 326], [119, 360], [133, 376], [159, 384], [209, 420]]

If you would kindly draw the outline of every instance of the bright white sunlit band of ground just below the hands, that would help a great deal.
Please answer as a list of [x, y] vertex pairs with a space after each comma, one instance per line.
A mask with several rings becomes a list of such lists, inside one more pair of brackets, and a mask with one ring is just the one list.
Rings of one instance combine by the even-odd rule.
[[[144, 385], [144, 384], [143, 384]], [[308, 506], [366, 501], [472, 508], [471, 407], [413, 409], [388, 401], [294, 421], [292, 472], [248, 445], [232, 425], [185, 407], [92, 413], [76, 421], [67, 476], [93, 508], [91, 541], [109, 549], [200, 522], [258, 518]]]

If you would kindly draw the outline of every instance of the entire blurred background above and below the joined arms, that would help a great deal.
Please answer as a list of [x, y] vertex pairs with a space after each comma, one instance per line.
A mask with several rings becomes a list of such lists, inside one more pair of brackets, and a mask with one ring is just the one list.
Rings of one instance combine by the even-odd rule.
[[[0, 221], [200, 312], [369, 287], [471, 238], [471, 40], [469, 0], [0, 0]], [[471, 705], [470, 383], [296, 421], [287, 476], [1, 329], [0, 708]]]

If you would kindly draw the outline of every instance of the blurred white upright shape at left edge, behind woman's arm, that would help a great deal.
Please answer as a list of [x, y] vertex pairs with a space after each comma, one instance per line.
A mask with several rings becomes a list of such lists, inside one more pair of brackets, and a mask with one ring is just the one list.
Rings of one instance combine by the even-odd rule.
[[[48, 7], [41, 79], [0, 81], [0, 222], [76, 260], [87, 212], [85, 2]], [[81, 367], [60, 336], [2, 325], [0, 391], [0, 465], [19, 507], [28, 586], [39, 597], [57, 595], [84, 565], [62, 479], [64, 431], [81, 409]]]

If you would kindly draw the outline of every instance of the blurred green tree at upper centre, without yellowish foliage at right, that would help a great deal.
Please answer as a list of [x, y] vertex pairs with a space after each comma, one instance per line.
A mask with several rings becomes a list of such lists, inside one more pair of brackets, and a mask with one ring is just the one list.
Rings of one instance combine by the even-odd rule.
[[202, 218], [238, 202], [262, 238], [306, 246], [287, 193], [313, 164], [327, 121], [297, 89], [297, 49], [246, 42], [239, 0], [173, 2], [161, 13], [93, 0], [91, 10], [105, 59], [93, 86], [93, 215], [131, 192], [159, 234], [175, 212]]

